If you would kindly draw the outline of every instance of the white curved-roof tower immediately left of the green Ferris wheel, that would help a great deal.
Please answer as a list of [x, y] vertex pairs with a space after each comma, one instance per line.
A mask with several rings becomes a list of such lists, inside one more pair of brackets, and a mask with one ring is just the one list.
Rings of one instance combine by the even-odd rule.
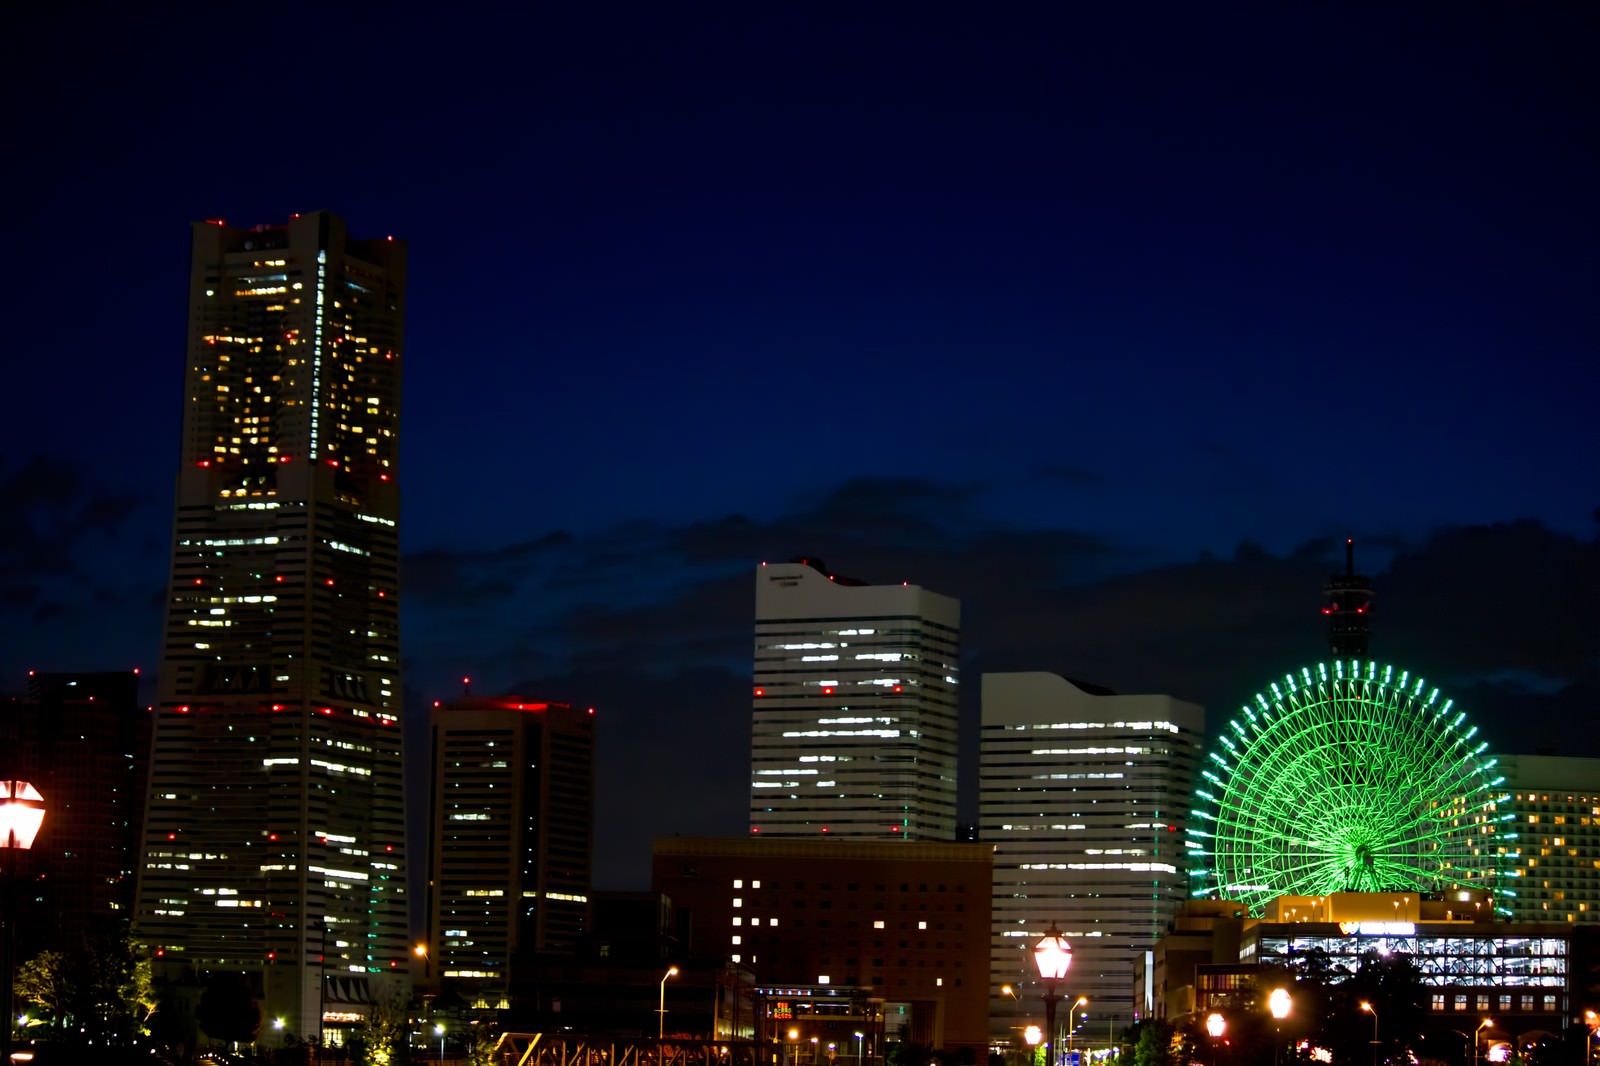
[[[1061, 986], [1088, 1000], [1078, 1047], [1133, 1021], [1130, 975], [1187, 898], [1184, 834], [1205, 711], [1056, 674], [984, 674], [979, 832], [995, 845], [990, 988], [1038, 983], [1034, 944], [1072, 944]], [[1038, 989], [1043, 991], [1043, 989]], [[1013, 1016], [995, 999], [992, 1016]], [[1099, 1044], [1096, 1044], [1099, 1040]]]

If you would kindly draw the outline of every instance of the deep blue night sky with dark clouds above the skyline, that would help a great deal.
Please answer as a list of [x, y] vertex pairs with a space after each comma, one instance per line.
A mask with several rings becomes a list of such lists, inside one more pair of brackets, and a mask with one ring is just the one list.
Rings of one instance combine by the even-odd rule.
[[1374, 658], [1600, 754], [1590, 5], [51, 6], [0, 690], [154, 671], [189, 224], [333, 210], [410, 242], [410, 719], [595, 706], [600, 887], [746, 829], [763, 559], [960, 597], [974, 752], [986, 669], [1232, 712], [1354, 536]]

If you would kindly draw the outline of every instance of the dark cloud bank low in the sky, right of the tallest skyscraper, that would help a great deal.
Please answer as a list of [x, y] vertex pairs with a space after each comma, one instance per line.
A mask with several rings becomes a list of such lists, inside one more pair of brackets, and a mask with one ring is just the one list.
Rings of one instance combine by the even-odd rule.
[[[962, 600], [968, 816], [981, 672], [1045, 669], [1163, 691], [1221, 722], [1326, 658], [1322, 589], [1344, 570], [1344, 538], [1320, 531], [1282, 554], [1243, 538], [1227, 557], [1152, 562], [1098, 533], [986, 520], [982, 487], [910, 479], [845, 482], [770, 520], [632, 522], [536, 543], [517, 552], [526, 565], [509, 579], [512, 613], [477, 599], [509, 573], [501, 552], [427, 554], [459, 584], [437, 586], [426, 610], [408, 605], [408, 687], [448, 687], [466, 667], [530, 696], [597, 706], [602, 773], [632, 797], [618, 807], [603, 787], [603, 869], [622, 879], [637, 877], [651, 834], [742, 832], [762, 560], [810, 552], [838, 573]], [[1512, 522], [1357, 533], [1357, 547], [1378, 592], [1373, 658], [1438, 683], [1494, 747], [1558, 744], [1570, 715], [1592, 706], [1582, 699], [1600, 688], [1600, 623], [1587, 610], [1600, 600], [1594, 541]]]

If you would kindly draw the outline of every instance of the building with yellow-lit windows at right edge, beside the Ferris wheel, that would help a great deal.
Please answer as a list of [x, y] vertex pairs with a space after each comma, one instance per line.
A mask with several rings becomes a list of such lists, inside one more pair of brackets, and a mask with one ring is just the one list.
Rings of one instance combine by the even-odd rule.
[[1600, 922], [1600, 759], [1499, 755], [1515, 839], [1502, 900], [1518, 922]]

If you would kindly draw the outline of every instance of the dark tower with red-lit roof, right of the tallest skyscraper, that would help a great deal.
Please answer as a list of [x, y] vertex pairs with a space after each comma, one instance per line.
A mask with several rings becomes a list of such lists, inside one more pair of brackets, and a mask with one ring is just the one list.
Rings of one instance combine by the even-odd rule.
[[504, 1008], [520, 959], [587, 932], [594, 712], [467, 696], [430, 725], [429, 976]]

